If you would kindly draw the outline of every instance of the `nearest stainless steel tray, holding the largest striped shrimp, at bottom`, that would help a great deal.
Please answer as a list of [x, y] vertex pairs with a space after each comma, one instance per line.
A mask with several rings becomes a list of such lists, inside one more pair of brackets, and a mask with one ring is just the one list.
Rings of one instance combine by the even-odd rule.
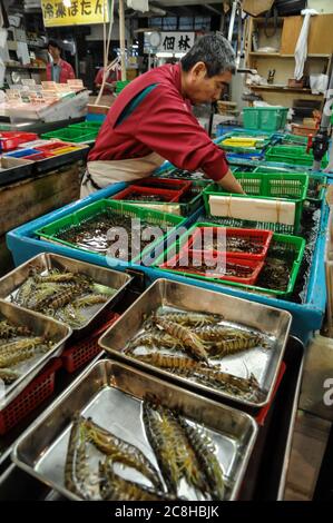
[[91, 416], [100, 426], [138, 446], [158, 467], [141, 422], [141, 401], [146, 394], [154, 394], [165, 406], [180, 409], [186, 418], [205, 425], [227, 478], [225, 499], [234, 500], [256, 440], [255, 421], [245, 413], [109, 359], [90, 366], [26, 431], [14, 445], [13, 462], [70, 500], [79, 500], [65, 487], [63, 473], [71, 416], [80, 411], [85, 417]]

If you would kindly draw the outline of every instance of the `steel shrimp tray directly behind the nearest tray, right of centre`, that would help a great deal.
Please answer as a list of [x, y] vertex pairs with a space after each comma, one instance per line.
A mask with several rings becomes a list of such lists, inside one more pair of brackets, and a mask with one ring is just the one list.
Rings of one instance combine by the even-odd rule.
[[[227, 325], [259, 330], [267, 336], [270, 349], [258, 347], [218, 359], [223, 372], [241, 377], [248, 377], [253, 373], [262, 388], [262, 397], [257, 399], [241, 398], [176, 376], [124, 354], [123, 349], [127, 342], [141, 329], [144, 317], [149, 316], [160, 306], [219, 314], [224, 316], [224, 322]], [[258, 409], [272, 399], [291, 322], [292, 316], [285, 310], [202, 289], [194, 285], [157, 279], [101, 336], [99, 345], [114, 357], [157, 373], [166, 379], [174, 378], [184, 385], [195, 387], [198, 393], [213, 394], [219, 399], [236, 402], [238, 406]]]

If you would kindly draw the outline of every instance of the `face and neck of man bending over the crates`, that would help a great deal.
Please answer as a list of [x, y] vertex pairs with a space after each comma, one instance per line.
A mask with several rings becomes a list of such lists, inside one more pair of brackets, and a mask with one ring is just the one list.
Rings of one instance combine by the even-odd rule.
[[199, 62], [189, 72], [186, 95], [193, 105], [217, 101], [232, 78], [231, 71], [208, 78], [206, 66]]

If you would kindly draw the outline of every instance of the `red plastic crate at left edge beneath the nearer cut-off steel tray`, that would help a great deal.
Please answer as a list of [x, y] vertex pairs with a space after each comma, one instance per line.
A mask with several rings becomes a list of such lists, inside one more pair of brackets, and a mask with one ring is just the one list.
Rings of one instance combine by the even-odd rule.
[[55, 389], [56, 372], [61, 359], [53, 358], [43, 371], [2, 411], [0, 411], [0, 435], [6, 434], [37, 408]]

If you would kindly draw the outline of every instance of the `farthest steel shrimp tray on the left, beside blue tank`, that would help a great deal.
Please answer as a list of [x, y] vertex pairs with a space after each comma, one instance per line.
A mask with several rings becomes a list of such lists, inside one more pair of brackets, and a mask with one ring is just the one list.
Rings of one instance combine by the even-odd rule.
[[80, 327], [72, 327], [74, 333], [80, 335], [90, 327], [90, 324], [106, 307], [110, 307], [118, 302], [133, 279], [131, 276], [118, 270], [99, 267], [56, 254], [42, 253], [0, 278], [0, 298], [9, 302], [16, 295], [18, 288], [26, 282], [31, 268], [38, 268], [42, 274], [47, 274], [48, 270], [53, 268], [82, 273], [90, 276], [97, 284], [117, 289], [106, 303], [94, 305], [82, 310], [82, 315], [87, 318], [86, 323]]

